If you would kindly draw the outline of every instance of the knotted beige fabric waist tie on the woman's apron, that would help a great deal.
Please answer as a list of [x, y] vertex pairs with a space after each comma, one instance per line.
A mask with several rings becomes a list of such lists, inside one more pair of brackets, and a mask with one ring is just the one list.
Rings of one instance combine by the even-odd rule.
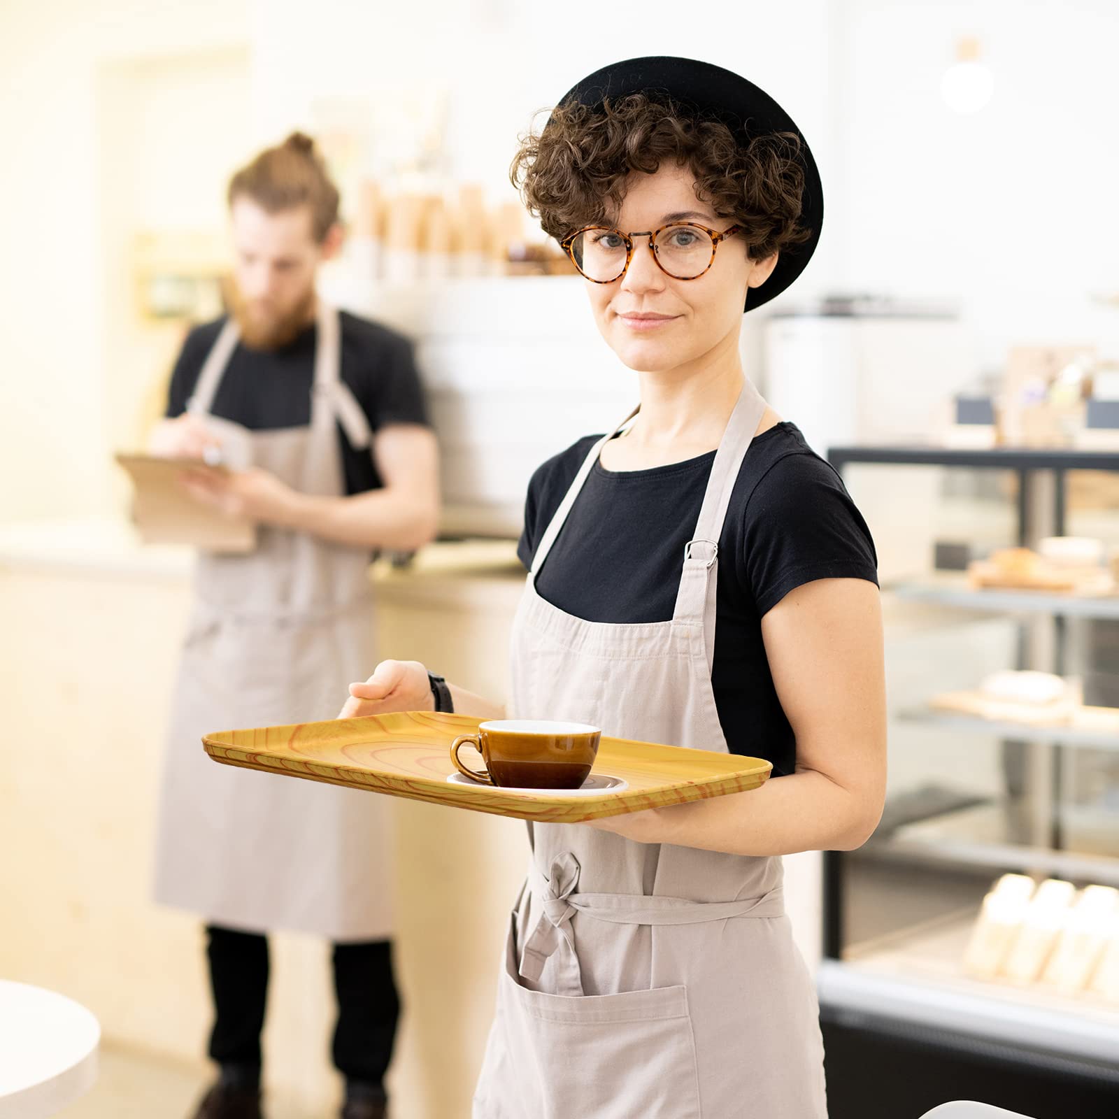
[[561, 995], [583, 994], [583, 976], [571, 928], [576, 913], [613, 924], [650, 925], [700, 924], [731, 918], [784, 914], [784, 895], [780, 886], [760, 897], [730, 902], [697, 902], [660, 894], [589, 894], [575, 892], [580, 865], [572, 852], [557, 855], [551, 869], [551, 878], [546, 878], [535, 864], [528, 872], [527, 885], [540, 903], [540, 916], [521, 949], [519, 975], [536, 982], [548, 958], [558, 951], [557, 994]]

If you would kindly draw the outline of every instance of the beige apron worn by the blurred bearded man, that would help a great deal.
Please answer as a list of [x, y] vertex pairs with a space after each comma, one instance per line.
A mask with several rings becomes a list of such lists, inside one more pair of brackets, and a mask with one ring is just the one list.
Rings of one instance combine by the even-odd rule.
[[[338, 312], [320, 305], [310, 426], [251, 432], [208, 415], [237, 345], [232, 319], [190, 410], [232, 458], [303, 493], [342, 495], [336, 422], [356, 446], [370, 434], [340, 379], [339, 332]], [[208, 731], [337, 716], [346, 681], [376, 662], [368, 571], [367, 548], [264, 525], [248, 555], [199, 555], [163, 772], [158, 901], [245, 930], [336, 941], [392, 932], [387, 800], [219, 765], [200, 743]]]

